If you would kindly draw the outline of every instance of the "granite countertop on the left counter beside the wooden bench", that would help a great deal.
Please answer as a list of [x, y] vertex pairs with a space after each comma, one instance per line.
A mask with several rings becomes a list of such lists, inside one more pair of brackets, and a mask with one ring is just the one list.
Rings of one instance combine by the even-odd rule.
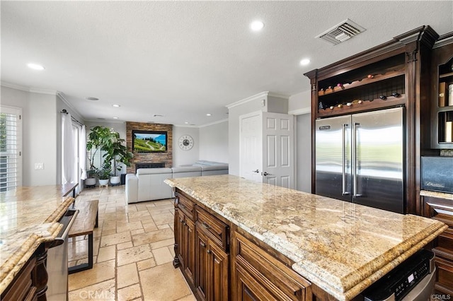
[[74, 199], [61, 185], [18, 187], [0, 193], [0, 294], [42, 242], [52, 241]]

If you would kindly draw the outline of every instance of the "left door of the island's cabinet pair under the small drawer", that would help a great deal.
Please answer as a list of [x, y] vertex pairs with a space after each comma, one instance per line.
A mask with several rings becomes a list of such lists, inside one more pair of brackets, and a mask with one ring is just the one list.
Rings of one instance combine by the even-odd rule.
[[207, 236], [199, 229], [196, 230], [195, 240], [195, 288], [201, 300], [207, 300]]

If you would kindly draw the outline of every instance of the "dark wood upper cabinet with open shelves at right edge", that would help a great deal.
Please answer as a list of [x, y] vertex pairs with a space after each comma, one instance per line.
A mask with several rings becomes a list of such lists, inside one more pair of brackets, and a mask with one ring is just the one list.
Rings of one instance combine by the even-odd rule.
[[453, 33], [432, 49], [431, 148], [453, 149]]

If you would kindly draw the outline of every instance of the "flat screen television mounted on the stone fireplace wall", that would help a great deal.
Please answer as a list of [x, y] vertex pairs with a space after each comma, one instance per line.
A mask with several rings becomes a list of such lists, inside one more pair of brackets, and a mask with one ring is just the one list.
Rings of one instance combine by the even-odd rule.
[[134, 153], [166, 153], [166, 131], [132, 131], [132, 151]]

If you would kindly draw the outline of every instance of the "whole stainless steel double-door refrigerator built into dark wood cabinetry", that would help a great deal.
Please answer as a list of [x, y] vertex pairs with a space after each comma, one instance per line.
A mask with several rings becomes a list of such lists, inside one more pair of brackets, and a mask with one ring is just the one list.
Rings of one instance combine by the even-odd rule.
[[403, 213], [403, 108], [316, 120], [316, 194]]

